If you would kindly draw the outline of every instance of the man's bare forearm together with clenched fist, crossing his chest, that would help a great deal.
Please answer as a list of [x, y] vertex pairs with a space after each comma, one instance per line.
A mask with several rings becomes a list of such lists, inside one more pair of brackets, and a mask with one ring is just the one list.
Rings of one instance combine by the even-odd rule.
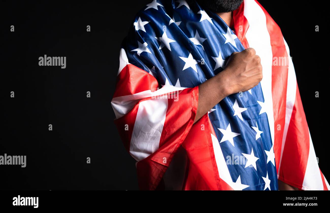
[[255, 54], [255, 50], [248, 48], [234, 52], [222, 72], [198, 86], [198, 107], [194, 123], [228, 95], [247, 91], [261, 79], [260, 57]]

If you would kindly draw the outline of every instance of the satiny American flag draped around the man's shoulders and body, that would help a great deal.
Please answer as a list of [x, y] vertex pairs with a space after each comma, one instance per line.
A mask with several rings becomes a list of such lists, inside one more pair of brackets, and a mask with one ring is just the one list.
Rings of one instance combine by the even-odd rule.
[[[182, 146], [184, 190], [328, 190], [279, 26], [255, 0], [233, 12], [234, 30], [195, 1], [153, 0], [120, 49], [112, 106], [140, 189], [157, 187]], [[195, 124], [198, 85], [232, 52], [253, 47], [263, 79], [223, 99]], [[286, 59], [287, 64], [274, 64]]]

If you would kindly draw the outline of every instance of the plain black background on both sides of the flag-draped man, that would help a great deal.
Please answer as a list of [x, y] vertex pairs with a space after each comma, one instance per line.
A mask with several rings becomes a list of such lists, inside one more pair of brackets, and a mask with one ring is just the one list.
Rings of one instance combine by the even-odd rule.
[[[135, 161], [120, 141], [110, 102], [120, 43], [150, 1], [1, 2], [0, 155], [26, 155], [27, 162], [25, 168], [1, 166], [0, 189], [138, 189]], [[326, 6], [259, 2], [290, 47], [316, 156], [329, 179]], [[66, 56], [66, 69], [39, 66], [44, 54]]]

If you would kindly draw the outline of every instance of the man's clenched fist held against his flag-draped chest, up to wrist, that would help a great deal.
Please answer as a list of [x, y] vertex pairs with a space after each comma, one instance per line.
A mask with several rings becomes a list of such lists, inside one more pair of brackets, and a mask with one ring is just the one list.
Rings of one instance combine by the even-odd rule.
[[255, 54], [253, 48], [233, 52], [221, 75], [226, 79], [229, 95], [245, 92], [256, 86], [262, 79], [260, 57]]

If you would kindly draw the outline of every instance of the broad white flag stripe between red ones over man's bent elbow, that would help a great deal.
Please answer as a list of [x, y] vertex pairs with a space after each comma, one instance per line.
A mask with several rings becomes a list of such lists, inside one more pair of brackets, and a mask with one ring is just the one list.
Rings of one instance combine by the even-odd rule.
[[130, 153], [136, 161], [159, 148], [167, 107], [167, 97], [140, 102], [130, 143]]

